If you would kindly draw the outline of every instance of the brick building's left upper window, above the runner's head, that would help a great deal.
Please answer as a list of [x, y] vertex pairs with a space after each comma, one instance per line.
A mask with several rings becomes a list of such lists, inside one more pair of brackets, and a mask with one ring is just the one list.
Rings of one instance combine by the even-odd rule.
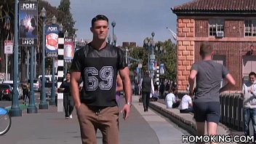
[[217, 31], [224, 31], [224, 20], [209, 20], [209, 36], [216, 36]]

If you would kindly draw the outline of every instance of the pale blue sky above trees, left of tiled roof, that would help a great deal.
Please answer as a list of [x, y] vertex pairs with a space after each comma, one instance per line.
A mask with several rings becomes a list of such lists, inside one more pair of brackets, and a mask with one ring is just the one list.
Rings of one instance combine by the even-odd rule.
[[[46, 1], [54, 7], [60, 5], [60, 0]], [[89, 31], [91, 20], [102, 14], [108, 17], [108, 33], [111, 36], [111, 22], [116, 22], [116, 45], [122, 45], [123, 41], [135, 41], [137, 46], [142, 47], [143, 40], [151, 37], [152, 32], [155, 33], [155, 41], [172, 39], [167, 27], [176, 32], [177, 16], [172, 13], [171, 7], [188, 1], [191, 0], [71, 0], [71, 13], [79, 39], [92, 40]]]

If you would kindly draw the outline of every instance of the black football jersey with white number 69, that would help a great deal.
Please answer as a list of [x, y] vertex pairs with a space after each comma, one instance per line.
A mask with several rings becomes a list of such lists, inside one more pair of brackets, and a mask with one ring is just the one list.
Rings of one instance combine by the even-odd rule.
[[95, 49], [89, 43], [77, 50], [71, 71], [81, 72], [84, 81], [81, 102], [95, 106], [115, 106], [117, 71], [125, 67], [124, 52], [110, 44], [106, 44], [103, 49]]

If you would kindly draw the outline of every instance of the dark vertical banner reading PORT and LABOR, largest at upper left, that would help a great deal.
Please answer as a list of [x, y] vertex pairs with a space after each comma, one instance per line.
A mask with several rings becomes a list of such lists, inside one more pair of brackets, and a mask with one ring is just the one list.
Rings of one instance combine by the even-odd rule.
[[37, 3], [19, 2], [19, 45], [32, 47], [37, 45]]

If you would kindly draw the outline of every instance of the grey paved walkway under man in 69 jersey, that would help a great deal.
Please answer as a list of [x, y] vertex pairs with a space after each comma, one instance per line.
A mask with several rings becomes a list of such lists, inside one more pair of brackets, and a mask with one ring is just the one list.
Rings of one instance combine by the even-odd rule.
[[[180, 143], [182, 130], [172, 126], [167, 120], [149, 110], [143, 111], [138, 97], [133, 96], [131, 116], [124, 121], [120, 115], [121, 144], [165, 144]], [[124, 98], [121, 98], [124, 103]], [[64, 119], [64, 113], [57, 113], [57, 107], [49, 105], [47, 110], [12, 117], [12, 127], [0, 137], [3, 144], [71, 144], [81, 143], [76, 112], [73, 119]], [[102, 135], [97, 132], [97, 143], [102, 143]]]

